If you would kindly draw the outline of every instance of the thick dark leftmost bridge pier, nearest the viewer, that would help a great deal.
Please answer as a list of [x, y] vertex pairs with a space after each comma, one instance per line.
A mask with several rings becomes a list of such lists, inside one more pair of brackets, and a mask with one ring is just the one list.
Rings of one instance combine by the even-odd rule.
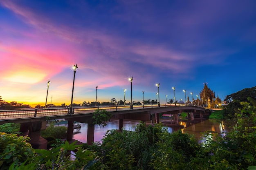
[[30, 137], [29, 143], [34, 149], [47, 149], [47, 140], [40, 137], [40, 131], [45, 130], [46, 121], [35, 121], [20, 124], [20, 132], [22, 136]]

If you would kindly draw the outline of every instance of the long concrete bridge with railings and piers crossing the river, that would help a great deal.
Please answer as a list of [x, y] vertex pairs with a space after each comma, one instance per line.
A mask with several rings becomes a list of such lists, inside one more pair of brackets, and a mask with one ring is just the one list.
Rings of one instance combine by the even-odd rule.
[[123, 128], [124, 119], [148, 121], [155, 115], [155, 122], [159, 123], [159, 114], [174, 115], [175, 125], [179, 124], [178, 114], [185, 112], [187, 117], [194, 120], [209, 116], [211, 110], [185, 104], [150, 104], [150, 105], [122, 105], [122, 106], [83, 106], [65, 108], [29, 108], [19, 110], [0, 110], [0, 124], [20, 123], [22, 135], [29, 135], [30, 143], [34, 148], [46, 148], [47, 141], [40, 137], [40, 130], [45, 130], [47, 120], [65, 119], [68, 121], [67, 141], [72, 141], [74, 121], [88, 124], [87, 143], [94, 141], [93, 113], [97, 109], [104, 109], [119, 119], [119, 130]]

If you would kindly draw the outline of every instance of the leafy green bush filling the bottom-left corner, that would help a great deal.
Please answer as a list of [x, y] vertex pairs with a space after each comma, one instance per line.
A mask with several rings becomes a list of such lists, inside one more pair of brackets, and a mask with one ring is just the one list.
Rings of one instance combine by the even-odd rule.
[[6, 170], [11, 165], [25, 165], [34, 158], [34, 150], [27, 140], [29, 137], [0, 132], [0, 170]]

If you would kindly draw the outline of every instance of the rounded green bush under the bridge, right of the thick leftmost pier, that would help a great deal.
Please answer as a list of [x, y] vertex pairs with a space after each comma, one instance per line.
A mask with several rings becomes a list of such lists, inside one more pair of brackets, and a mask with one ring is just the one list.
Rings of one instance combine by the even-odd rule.
[[41, 131], [41, 136], [45, 138], [54, 137], [55, 139], [64, 139], [67, 137], [67, 127], [50, 124], [45, 130]]

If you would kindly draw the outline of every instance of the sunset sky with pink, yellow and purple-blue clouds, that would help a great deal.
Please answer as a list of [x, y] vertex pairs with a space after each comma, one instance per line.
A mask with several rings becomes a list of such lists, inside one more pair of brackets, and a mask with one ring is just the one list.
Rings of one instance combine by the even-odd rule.
[[256, 86], [255, 0], [0, 0], [0, 96], [35, 106], [184, 101]]

